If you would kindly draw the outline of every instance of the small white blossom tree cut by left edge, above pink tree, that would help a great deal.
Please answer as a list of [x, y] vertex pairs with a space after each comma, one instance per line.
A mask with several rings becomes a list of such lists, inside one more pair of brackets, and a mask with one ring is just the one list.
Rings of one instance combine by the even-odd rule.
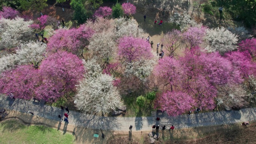
[[16, 59], [17, 59], [16, 54], [9, 54], [9, 55], [2, 56], [0, 58], [0, 73], [15, 67], [15, 65], [17, 64]]

